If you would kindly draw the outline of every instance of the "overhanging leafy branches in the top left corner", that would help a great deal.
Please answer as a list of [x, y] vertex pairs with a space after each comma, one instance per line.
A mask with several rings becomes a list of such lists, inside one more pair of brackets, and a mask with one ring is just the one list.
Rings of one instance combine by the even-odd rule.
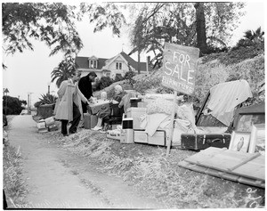
[[33, 50], [32, 38], [51, 47], [50, 56], [77, 53], [83, 44], [74, 24], [75, 9], [62, 3], [3, 3], [5, 53]]

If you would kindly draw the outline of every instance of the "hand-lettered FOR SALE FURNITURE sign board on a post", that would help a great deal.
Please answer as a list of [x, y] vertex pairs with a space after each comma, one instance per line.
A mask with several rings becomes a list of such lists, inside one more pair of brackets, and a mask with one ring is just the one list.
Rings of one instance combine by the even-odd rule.
[[162, 85], [192, 95], [195, 89], [199, 49], [165, 43]]

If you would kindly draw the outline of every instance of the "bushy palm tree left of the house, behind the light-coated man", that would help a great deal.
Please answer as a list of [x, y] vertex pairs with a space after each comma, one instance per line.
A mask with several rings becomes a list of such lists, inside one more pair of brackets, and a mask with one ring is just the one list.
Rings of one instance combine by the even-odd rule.
[[52, 82], [56, 80], [57, 87], [60, 87], [63, 80], [67, 80], [72, 77], [77, 70], [77, 64], [72, 56], [66, 57], [59, 63], [58, 67], [53, 69], [51, 73]]

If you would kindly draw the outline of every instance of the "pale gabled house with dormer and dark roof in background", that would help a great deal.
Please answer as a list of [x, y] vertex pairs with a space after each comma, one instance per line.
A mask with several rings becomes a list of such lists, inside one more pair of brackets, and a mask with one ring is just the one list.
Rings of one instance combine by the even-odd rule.
[[[91, 57], [76, 57], [77, 70], [82, 72], [82, 77], [87, 75], [89, 72], [94, 71], [97, 77], [111, 77], [115, 78], [116, 75], [122, 77], [125, 73], [132, 69], [134, 72], [138, 71], [138, 62], [134, 61], [126, 53], [121, 52], [110, 59], [98, 58], [96, 56]], [[140, 62], [140, 72], [147, 72], [147, 63]]]

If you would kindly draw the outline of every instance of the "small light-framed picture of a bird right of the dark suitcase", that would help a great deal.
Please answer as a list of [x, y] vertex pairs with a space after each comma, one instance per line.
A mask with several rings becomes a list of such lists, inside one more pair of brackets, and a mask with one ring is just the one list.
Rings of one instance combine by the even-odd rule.
[[232, 132], [229, 150], [248, 152], [250, 133]]

